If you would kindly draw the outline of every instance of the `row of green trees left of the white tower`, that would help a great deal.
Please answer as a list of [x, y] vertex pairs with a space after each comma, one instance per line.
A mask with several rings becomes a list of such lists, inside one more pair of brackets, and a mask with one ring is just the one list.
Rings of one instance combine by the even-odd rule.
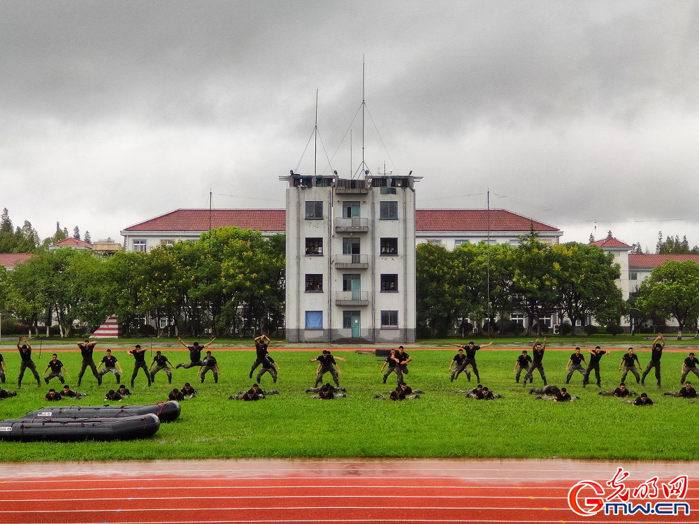
[[[92, 333], [111, 314], [127, 333], [273, 331], [284, 312], [284, 235], [224, 227], [148, 253], [98, 259], [62, 248], [0, 268], [0, 306], [34, 333], [56, 319], [62, 336]], [[161, 328], [161, 326], [165, 326]]]

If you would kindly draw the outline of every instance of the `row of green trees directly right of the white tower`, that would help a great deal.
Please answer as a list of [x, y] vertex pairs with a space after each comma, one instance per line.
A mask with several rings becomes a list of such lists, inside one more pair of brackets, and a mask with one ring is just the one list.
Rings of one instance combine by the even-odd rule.
[[443, 337], [467, 318], [507, 332], [506, 319], [524, 314], [527, 333], [558, 312], [583, 326], [593, 316], [617, 326], [627, 306], [617, 286], [619, 265], [597, 246], [548, 245], [532, 231], [519, 245], [484, 242], [417, 247], [417, 323], [422, 336]]

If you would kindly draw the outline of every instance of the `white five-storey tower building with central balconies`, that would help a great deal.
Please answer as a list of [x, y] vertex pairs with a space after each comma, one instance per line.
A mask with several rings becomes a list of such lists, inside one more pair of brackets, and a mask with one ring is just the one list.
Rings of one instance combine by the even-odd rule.
[[414, 342], [419, 177], [287, 181], [290, 342]]

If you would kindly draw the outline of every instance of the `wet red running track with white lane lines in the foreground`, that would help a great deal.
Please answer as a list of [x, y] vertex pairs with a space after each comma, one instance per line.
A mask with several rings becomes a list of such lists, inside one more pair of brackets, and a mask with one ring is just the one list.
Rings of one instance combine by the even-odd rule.
[[[580, 480], [605, 486], [617, 467], [630, 472], [629, 488], [653, 476], [667, 482], [689, 475], [682, 502], [691, 513], [577, 516], [568, 506], [568, 490]], [[2, 464], [0, 478], [0, 523], [13, 524], [699, 523], [699, 463], [689, 462], [30, 463]]]

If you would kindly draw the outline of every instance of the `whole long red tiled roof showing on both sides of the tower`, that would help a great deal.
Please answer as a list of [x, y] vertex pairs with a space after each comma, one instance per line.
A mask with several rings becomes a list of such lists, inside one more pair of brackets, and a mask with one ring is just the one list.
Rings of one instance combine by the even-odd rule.
[[[415, 212], [417, 231], [487, 231], [487, 210], [424, 209]], [[258, 231], [286, 231], [286, 210], [283, 209], [215, 209], [211, 226], [238, 226]], [[490, 210], [491, 231], [561, 231], [507, 210]], [[178, 209], [159, 217], [124, 228], [124, 231], [206, 231], [208, 209]]]

